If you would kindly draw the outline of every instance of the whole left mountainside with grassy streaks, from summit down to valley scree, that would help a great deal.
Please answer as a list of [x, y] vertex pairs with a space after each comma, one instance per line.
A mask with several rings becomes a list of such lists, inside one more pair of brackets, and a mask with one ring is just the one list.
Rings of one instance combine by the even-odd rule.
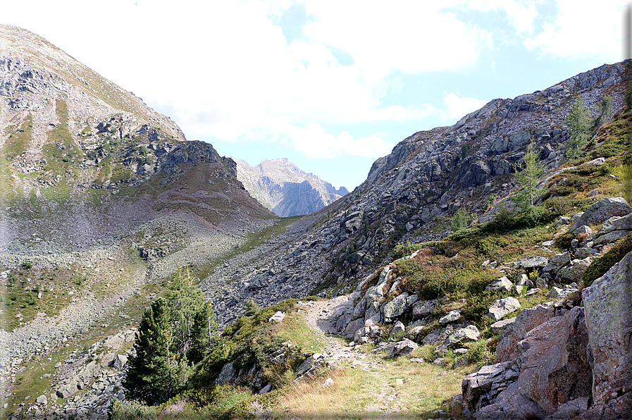
[[[176, 269], [208, 271], [278, 221], [244, 190], [232, 159], [185, 140], [170, 118], [41, 37], [5, 25], [0, 147], [1, 396], [50, 396], [66, 385], [60, 394], [76, 393], [85, 369], [73, 350], [133, 328]], [[52, 373], [16, 383], [46, 357], [56, 360]], [[54, 375], [57, 362], [68, 365]], [[86, 381], [92, 373], [102, 372]], [[94, 395], [101, 412], [116, 381]]]

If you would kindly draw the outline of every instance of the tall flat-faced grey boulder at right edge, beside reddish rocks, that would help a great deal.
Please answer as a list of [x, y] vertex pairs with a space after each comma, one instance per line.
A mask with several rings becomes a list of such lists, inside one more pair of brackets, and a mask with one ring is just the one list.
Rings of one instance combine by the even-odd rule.
[[[590, 356], [593, 359], [593, 401], [605, 404], [631, 394], [632, 252], [582, 290]], [[632, 406], [628, 406], [632, 410]]]

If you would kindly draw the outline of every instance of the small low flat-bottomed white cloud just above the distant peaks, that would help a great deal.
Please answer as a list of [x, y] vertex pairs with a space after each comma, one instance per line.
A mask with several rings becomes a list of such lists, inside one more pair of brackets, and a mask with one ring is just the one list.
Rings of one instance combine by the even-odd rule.
[[355, 139], [349, 132], [343, 131], [334, 136], [314, 121], [306, 123], [304, 127], [292, 128], [290, 136], [295, 149], [309, 158], [384, 156], [393, 147], [392, 143], [375, 134]]

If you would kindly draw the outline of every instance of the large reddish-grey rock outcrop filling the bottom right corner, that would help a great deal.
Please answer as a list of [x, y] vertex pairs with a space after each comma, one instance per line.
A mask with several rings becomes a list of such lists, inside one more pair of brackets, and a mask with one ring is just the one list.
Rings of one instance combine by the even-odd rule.
[[516, 318], [496, 363], [463, 381], [476, 419], [629, 418], [632, 252], [582, 298], [583, 307], [543, 304]]

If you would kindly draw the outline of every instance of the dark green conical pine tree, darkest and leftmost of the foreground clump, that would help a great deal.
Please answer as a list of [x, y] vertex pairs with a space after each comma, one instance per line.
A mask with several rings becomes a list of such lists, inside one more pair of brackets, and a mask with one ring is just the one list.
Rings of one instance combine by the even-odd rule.
[[184, 385], [186, 365], [171, 351], [172, 343], [168, 304], [156, 299], [145, 310], [136, 334], [136, 355], [130, 358], [124, 383], [128, 397], [152, 405], [168, 400]]

